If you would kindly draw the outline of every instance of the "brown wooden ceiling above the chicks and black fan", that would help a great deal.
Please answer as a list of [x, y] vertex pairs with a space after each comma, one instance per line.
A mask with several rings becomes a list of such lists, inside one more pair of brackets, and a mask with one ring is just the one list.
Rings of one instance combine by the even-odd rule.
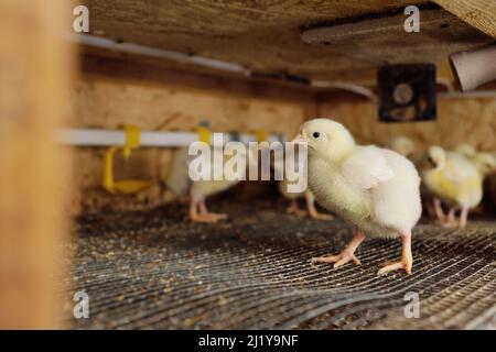
[[[91, 34], [240, 64], [254, 72], [373, 85], [384, 64], [440, 63], [494, 41], [418, 0], [420, 33], [403, 31], [411, 0], [86, 0]], [[331, 40], [303, 41], [325, 23]], [[328, 34], [327, 34], [328, 35]]]

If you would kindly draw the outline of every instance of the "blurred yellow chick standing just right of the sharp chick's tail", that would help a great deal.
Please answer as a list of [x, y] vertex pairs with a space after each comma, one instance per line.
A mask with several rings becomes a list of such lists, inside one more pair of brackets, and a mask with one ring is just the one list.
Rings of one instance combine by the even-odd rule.
[[[440, 146], [428, 150], [427, 163], [422, 165], [422, 180], [435, 197], [438, 217], [443, 219], [440, 200], [450, 206], [449, 220], [454, 211], [462, 209], [459, 226], [464, 228], [470, 209], [476, 207], [483, 196], [483, 177], [475, 166], [456, 153], [445, 153]], [[440, 199], [440, 200], [439, 200]]]

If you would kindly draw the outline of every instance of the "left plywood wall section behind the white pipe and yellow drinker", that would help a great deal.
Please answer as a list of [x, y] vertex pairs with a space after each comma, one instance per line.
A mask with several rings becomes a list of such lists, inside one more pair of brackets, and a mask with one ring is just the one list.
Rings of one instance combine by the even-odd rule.
[[[190, 79], [186, 76], [182, 81], [177, 74], [164, 75], [157, 68], [143, 68], [136, 63], [129, 67], [134, 73], [123, 74], [119, 65], [122, 63], [100, 63], [95, 68], [88, 65], [89, 68], [83, 69], [73, 85], [76, 112], [69, 125], [118, 129], [123, 123], [134, 123], [148, 131], [192, 131], [201, 121], [208, 121], [213, 131], [263, 129], [291, 136], [304, 118], [314, 112], [314, 102], [305, 95], [289, 95], [284, 90], [280, 90], [282, 94], [265, 92], [257, 86], [234, 85], [229, 80], [223, 87], [218, 79], [206, 82], [198, 78], [196, 86], [186, 86], [184, 81]], [[105, 72], [96, 72], [103, 67]], [[153, 73], [157, 75], [150, 79]], [[75, 212], [79, 211], [77, 205], [93, 211], [106, 207], [139, 209], [170, 199], [162, 185], [169, 169], [170, 150], [143, 148], [127, 162], [116, 158], [116, 178], [153, 182], [151, 188], [137, 196], [114, 196], [101, 189], [104, 153], [104, 148], [74, 151], [73, 184], [79, 194], [73, 201]]]

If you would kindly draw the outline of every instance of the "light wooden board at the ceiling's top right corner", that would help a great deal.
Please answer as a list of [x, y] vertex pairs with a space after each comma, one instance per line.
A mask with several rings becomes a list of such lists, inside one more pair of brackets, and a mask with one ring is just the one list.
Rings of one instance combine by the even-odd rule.
[[496, 38], [495, 0], [433, 0], [446, 11]]

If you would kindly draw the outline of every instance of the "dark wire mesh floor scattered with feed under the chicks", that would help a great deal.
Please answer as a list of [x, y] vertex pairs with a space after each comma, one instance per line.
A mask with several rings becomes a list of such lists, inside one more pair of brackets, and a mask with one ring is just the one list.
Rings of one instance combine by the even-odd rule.
[[[339, 220], [287, 216], [274, 202], [222, 205], [230, 220], [184, 220], [184, 207], [78, 219], [65, 288], [89, 296], [89, 329], [474, 329], [494, 328], [496, 221], [413, 231], [413, 274], [377, 276], [400, 257], [395, 240], [368, 239], [360, 266], [311, 265], [351, 239]], [[69, 287], [69, 288], [67, 288]], [[420, 318], [406, 318], [407, 293]], [[492, 322], [493, 321], [493, 322]]]

